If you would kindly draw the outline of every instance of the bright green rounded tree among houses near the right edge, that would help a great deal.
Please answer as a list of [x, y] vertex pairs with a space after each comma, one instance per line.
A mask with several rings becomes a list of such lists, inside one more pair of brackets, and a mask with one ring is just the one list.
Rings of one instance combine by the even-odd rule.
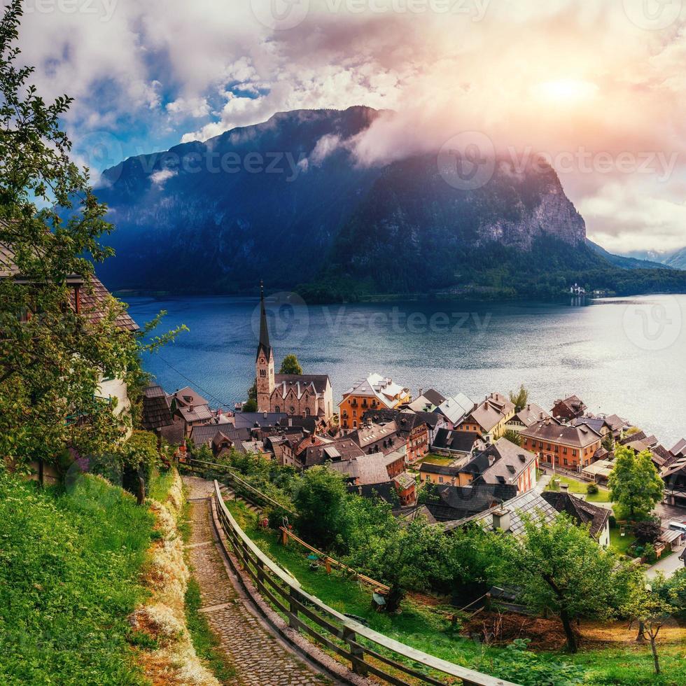
[[610, 499], [619, 505], [620, 518], [643, 519], [662, 499], [664, 484], [650, 450], [638, 455], [626, 446], [615, 449], [615, 467], [608, 479]]

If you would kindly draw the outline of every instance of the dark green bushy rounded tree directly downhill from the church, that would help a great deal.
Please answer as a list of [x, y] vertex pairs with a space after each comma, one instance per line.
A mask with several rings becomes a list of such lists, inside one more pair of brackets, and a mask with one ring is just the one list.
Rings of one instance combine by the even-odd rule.
[[295, 528], [311, 545], [344, 549], [349, 520], [343, 477], [322, 465], [303, 473], [293, 494]]

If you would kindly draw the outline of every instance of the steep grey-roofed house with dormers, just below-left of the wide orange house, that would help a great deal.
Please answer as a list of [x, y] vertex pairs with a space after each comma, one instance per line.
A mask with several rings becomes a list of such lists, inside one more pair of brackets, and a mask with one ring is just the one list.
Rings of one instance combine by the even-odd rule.
[[461, 466], [459, 485], [508, 484], [517, 486], [519, 493], [526, 493], [536, 485], [537, 466], [538, 458], [533, 452], [499, 438]]

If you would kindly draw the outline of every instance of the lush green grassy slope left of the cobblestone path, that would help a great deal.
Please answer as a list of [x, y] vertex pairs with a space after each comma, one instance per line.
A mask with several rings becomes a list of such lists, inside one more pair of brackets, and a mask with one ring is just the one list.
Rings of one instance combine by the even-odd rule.
[[153, 524], [103, 479], [65, 493], [0, 470], [0, 683], [144, 682], [126, 618]]

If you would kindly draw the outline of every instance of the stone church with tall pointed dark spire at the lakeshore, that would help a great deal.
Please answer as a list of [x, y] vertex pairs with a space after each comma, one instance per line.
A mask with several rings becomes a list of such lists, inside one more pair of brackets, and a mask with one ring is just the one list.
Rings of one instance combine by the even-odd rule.
[[333, 417], [333, 393], [326, 374], [274, 374], [274, 351], [269, 344], [265, 292], [260, 293], [260, 342], [255, 359], [258, 412], [313, 416], [327, 426]]

